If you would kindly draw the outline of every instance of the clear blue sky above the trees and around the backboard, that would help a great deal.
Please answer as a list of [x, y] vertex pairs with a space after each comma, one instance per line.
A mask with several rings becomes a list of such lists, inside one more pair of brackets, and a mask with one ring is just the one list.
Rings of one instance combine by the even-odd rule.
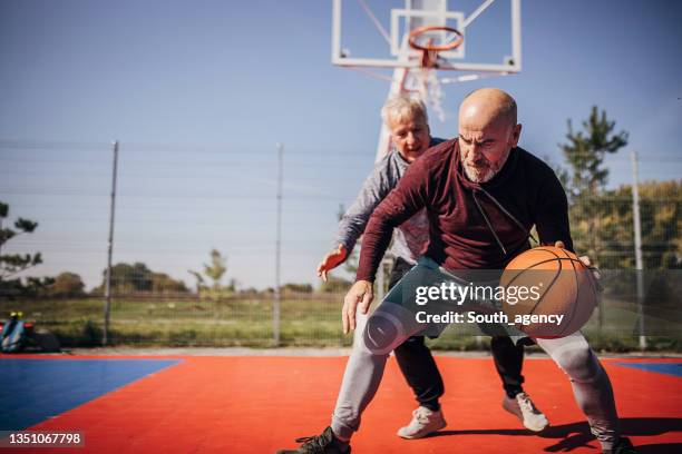
[[[228, 277], [270, 286], [282, 142], [283, 282], [314, 282], [388, 92], [330, 63], [330, 23], [322, 0], [0, 2], [0, 199], [40, 223], [8, 250], [42, 251], [37, 275], [99, 280], [118, 139], [115, 261], [191, 282], [216, 247]], [[524, 0], [523, 72], [446, 87], [432, 132], [452, 137], [461, 96], [494, 85], [517, 99], [532, 152], [559, 162], [566, 119], [597, 105], [631, 135], [613, 185], [630, 182], [633, 149], [643, 179], [680, 178], [680, 23], [678, 1]]]

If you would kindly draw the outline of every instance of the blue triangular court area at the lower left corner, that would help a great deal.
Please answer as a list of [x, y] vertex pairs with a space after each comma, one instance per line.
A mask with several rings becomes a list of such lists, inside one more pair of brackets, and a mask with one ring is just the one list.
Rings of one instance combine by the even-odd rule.
[[179, 359], [1, 359], [0, 430], [18, 431]]

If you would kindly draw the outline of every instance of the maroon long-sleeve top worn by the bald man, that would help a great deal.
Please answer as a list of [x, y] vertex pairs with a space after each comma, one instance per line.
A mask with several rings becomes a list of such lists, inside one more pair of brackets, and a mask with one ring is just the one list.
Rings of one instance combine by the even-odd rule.
[[372, 213], [358, 280], [374, 280], [393, 228], [422, 207], [429, 217], [423, 253], [447, 269], [504, 268], [530, 247], [528, 231], [534, 225], [540, 243], [562, 240], [573, 250], [566, 194], [549, 166], [514, 148], [491, 180], [471, 182], [454, 139], [417, 159]]

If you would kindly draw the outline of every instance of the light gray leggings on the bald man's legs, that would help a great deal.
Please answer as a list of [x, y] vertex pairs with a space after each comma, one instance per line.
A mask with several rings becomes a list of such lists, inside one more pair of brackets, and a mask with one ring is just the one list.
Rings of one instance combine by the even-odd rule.
[[[422, 257], [418, 265], [389, 292], [369, 318], [358, 317], [361, 323], [358, 324], [353, 348], [332, 415], [331, 427], [339, 438], [349, 441], [353, 432], [360, 427], [362, 412], [377, 393], [390, 352], [408, 337], [427, 328], [417, 322], [413, 310], [405, 307], [402, 287], [403, 282], [408, 283], [410, 279], [413, 282], [427, 274], [431, 280], [428, 285], [438, 285], [432, 279], [433, 273], [440, 275], [441, 282], [454, 280], [452, 276], [439, 268], [433, 260]], [[471, 310], [471, 307], [474, 306], [461, 306], [461, 310]], [[450, 307], [450, 309], [456, 308]], [[481, 312], [487, 313], [489, 308], [481, 307]], [[536, 342], [566, 373], [575, 399], [587, 416], [592, 433], [603, 450], [610, 450], [620, 435], [613, 389], [608, 375], [585, 337], [576, 333], [567, 337], [536, 339]]]

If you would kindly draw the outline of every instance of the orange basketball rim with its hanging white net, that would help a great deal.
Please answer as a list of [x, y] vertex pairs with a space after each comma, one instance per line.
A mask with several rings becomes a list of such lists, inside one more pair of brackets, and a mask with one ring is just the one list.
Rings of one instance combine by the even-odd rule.
[[[439, 42], [435, 34], [440, 36]], [[408, 43], [415, 50], [421, 51], [421, 87], [419, 92], [423, 101], [428, 101], [441, 121], [445, 120], [442, 110], [442, 91], [436, 77], [438, 69], [438, 52], [457, 49], [464, 42], [464, 36], [451, 27], [426, 26], [412, 30]]]

